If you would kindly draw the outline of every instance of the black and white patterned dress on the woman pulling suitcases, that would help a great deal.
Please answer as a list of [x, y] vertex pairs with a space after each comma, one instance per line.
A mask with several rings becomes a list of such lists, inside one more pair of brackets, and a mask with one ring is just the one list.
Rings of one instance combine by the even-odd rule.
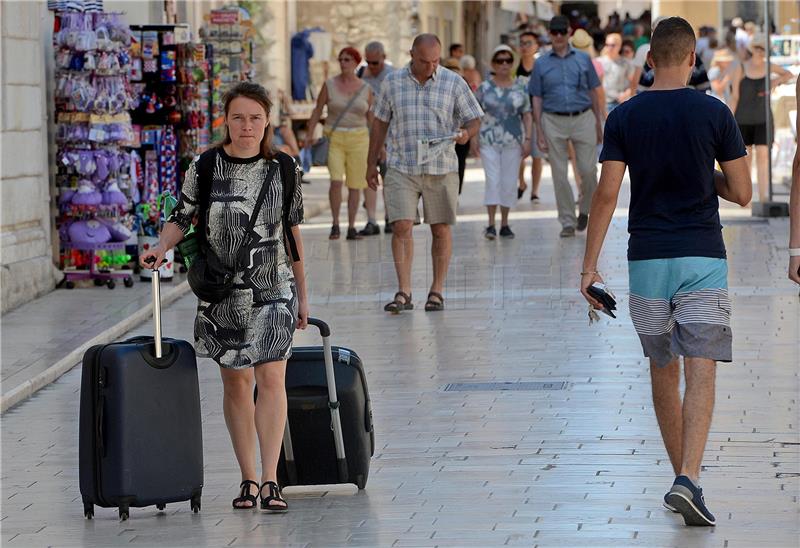
[[[234, 267], [256, 199], [267, 173], [262, 156], [233, 158], [218, 149], [208, 209], [208, 243], [220, 260]], [[178, 205], [169, 222], [184, 234], [199, 199], [196, 159], [186, 172]], [[258, 243], [250, 264], [234, 278], [234, 290], [220, 303], [198, 301], [194, 324], [195, 350], [221, 367], [243, 369], [288, 359], [297, 321], [297, 292], [290, 258], [283, 243], [283, 183], [277, 160], [274, 176], [254, 231]], [[299, 178], [297, 171], [295, 176]], [[303, 194], [295, 185], [289, 222], [303, 221]]]

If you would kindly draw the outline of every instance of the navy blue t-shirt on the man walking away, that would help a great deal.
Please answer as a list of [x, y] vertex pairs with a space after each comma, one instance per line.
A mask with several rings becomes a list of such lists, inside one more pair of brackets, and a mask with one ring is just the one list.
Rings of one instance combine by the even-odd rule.
[[725, 258], [714, 160], [746, 154], [730, 109], [691, 88], [646, 91], [608, 116], [600, 161], [628, 164], [628, 260]]

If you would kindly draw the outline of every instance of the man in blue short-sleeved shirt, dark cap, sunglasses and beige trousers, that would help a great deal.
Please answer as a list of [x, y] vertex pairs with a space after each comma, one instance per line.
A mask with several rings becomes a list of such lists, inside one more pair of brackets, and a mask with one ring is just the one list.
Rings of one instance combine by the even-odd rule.
[[[561, 223], [561, 237], [584, 230], [597, 186], [597, 145], [603, 141], [603, 107], [597, 88], [600, 78], [591, 58], [569, 45], [569, 20], [557, 15], [550, 20], [553, 49], [537, 59], [528, 82], [533, 96], [533, 118], [539, 150], [548, 153]], [[567, 176], [568, 141], [575, 147], [583, 197], [575, 217], [575, 195]]]

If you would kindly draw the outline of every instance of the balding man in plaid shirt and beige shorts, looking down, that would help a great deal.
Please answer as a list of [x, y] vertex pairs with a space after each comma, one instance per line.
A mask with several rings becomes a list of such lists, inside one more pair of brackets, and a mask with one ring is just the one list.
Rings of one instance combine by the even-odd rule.
[[[414, 308], [411, 232], [420, 197], [433, 235], [433, 283], [425, 310], [444, 309], [442, 293], [453, 248], [450, 227], [456, 223], [458, 206], [458, 159], [452, 142], [465, 144], [477, 135], [483, 116], [466, 82], [439, 67], [441, 51], [435, 35], [417, 36], [411, 62], [386, 77], [372, 106], [367, 182], [373, 189], [378, 187], [378, 156], [389, 134], [384, 202], [393, 223], [392, 255], [399, 288], [384, 310], [393, 314]], [[427, 141], [448, 137], [432, 147], [438, 154], [420, 164], [419, 150]]]

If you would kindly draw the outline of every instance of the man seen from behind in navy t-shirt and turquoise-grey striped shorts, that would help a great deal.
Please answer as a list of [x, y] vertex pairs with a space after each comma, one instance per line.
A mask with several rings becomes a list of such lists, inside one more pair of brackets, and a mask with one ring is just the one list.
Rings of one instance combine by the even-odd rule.
[[[686, 86], [695, 65], [691, 25], [662, 20], [647, 62], [655, 83], [608, 116], [600, 184], [592, 202], [581, 292], [602, 283], [600, 249], [630, 169], [630, 314], [650, 358], [653, 404], [676, 479], [664, 506], [687, 525], [714, 525], [698, 486], [716, 362], [732, 359], [727, 262], [719, 200], [752, 197], [744, 143], [721, 101]], [[722, 172], [714, 171], [718, 161]], [[686, 392], [680, 395], [680, 356]]]

